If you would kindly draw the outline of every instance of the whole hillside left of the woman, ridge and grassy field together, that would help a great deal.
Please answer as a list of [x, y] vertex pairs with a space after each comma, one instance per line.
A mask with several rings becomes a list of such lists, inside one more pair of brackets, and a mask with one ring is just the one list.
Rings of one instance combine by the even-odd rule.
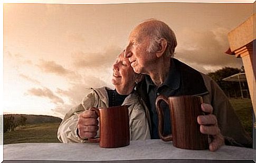
[[25, 126], [18, 126], [4, 133], [4, 144], [21, 142], [60, 142], [57, 139], [61, 118], [46, 115], [6, 114], [4, 118], [14, 117], [17, 122], [21, 116], [26, 118]]

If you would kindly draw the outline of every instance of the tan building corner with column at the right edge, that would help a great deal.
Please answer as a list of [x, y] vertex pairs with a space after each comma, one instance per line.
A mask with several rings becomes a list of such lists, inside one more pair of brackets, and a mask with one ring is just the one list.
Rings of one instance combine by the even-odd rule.
[[[256, 47], [256, 26], [253, 26], [253, 22], [256, 20], [256, 14], [253, 14], [245, 22], [233, 29], [227, 37], [229, 39], [230, 48], [227, 50], [227, 54], [235, 55], [235, 57], [242, 58], [245, 76], [249, 86], [249, 92], [252, 100], [252, 107], [254, 115], [256, 115], [256, 82], [255, 82], [255, 58], [253, 61], [253, 46]], [[254, 44], [253, 44], [254, 43]], [[255, 52], [254, 52], [255, 53]], [[254, 128], [256, 125], [254, 123]]]

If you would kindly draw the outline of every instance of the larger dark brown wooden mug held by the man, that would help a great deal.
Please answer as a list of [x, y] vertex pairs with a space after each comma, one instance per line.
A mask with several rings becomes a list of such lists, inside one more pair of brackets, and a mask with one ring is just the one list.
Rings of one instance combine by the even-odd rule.
[[[164, 135], [164, 115], [160, 101], [164, 100], [169, 106], [172, 123], [172, 134]], [[173, 96], [160, 95], [156, 98], [158, 114], [158, 134], [164, 141], [173, 141], [173, 145], [184, 149], [207, 149], [208, 135], [200, 132], [197, 116], [204, 115], [201, 109], [201, 96]]]

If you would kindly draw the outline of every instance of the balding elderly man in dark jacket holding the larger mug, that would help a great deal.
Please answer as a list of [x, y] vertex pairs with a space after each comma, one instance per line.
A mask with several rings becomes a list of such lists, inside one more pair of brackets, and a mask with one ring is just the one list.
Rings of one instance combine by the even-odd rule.
[[[156, 97], [201, 95], [201, 108], [208, 113], [198, 116], [197, 123], [203, 134], [211, 135], [209, 149], [215, 151], [227, 145], [252, 147], [252, 138], [246, 134], [220, 87], [208, 76], [197, 72], [173, 58], [176, 37], [164, 22], [150, 19], [136, 26], [130, 33], [125, 56], [136, 73], [146, 74], [138, 84], [140, 96], [149, 108], [151, 139], [158, 139]], [[189, 55], [189, 54], [188, 54]], [[164, 133], [169, 134], [169, 109], [165, 105]]]

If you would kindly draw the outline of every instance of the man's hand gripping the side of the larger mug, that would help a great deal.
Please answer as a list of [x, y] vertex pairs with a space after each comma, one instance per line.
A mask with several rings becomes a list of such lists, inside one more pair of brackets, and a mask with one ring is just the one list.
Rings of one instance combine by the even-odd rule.
[[217, 118], [212, 114], [212, 106], [210, 104], [202, 104], [201, 108], [207, 115], [198, 116], [197, 123], [200, 125], [202, 134], [208, 134], [212, 137], [212, 141], [209, 144], [210, 151], [216, 151], [224, 145], [224, 138], [217, 124]]

